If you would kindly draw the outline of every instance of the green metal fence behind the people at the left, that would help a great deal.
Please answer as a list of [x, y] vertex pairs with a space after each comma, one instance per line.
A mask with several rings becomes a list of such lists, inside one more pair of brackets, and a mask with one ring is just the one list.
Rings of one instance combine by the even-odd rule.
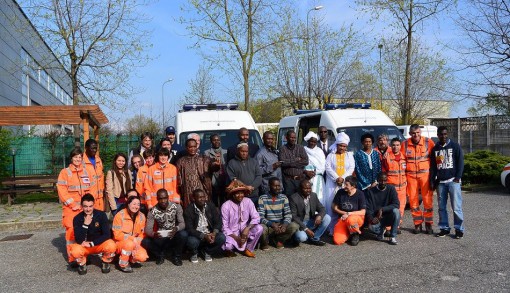
[[[101, 137], [99, 141], [100, 156], [105, 169], [110, 169], [113, 156], [122, 152], [126, 155], [139, 144], [139, 138], [127, 135]], [[83, 141], [81, 141], [83, 147]], [[69, 165], [69, 153], [74, 147], [74, 137], [59, 136], [54, 139], [47, 137], [18, 138], [11, 145], [16, 149], [14, 157], [16, 176], [23, 175], [56, 175], [62, 168]], [[12, 161], [7, 165], [12, 173]]]

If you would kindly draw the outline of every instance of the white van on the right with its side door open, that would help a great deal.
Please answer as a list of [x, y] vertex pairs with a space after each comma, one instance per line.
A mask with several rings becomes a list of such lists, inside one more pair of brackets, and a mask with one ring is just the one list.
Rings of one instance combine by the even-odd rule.
[[285, 144], [287, 131], [296, 131], [298, 143], [303, 143], [308, 131], [318, 134], [319, 126], [328, 128], [328, 139], [332, 142], [340, 132], [349, 135], [349, 151], [361, 149], [360, 140], [365, 133], [371, 133], [374, 139], [382, 133], [388, 135], [389, 140], [404, 139], [395, 123], [384, 112], [370, 109], [370, 103], [327, 104], [326, 110], [298, 110], [296, 114], [280, 120], [278, 147]]

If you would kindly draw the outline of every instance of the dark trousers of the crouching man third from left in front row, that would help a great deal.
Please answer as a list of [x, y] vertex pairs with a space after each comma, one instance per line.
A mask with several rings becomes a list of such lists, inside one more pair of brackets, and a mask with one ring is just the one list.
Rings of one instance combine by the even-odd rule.
[[186, 230], [181, 230], [175, 233], [174, 237], [171, 239], [168, 237], [146, 237], [142, 240], [142, 246], [156, 257], [165, 256], [165, 252], [171, 249], [174, 253], [174, 257], [180, 258], [187, 239], [188, 232], [186, 232]]

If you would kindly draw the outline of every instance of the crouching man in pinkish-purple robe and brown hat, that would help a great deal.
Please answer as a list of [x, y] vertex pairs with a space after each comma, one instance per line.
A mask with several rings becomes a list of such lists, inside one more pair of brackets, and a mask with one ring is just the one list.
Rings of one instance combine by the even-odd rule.
[[226, 191], [229, 200], [221, 206], [223, 234], [226, 236], [223, 245], [225, 255], [236, 256], [237, 250], [247, 257], [255, 257], [254, 250], [262, 235], [262, 226], [253, 201], [245, 197], [251, 193], [251, 189], [236, 179]]

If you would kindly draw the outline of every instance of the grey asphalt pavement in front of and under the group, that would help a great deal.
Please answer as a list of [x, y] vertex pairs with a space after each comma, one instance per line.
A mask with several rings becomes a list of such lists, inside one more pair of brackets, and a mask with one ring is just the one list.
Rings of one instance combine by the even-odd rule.
[[[92, 258], [84, 276], [67, 266], [63, 229], [0, 232], [0, 240], [34, 234], [0, 241], [0, 292], [510, 292], [510, 195], [464, 193], [464, 215], [460, 240], [404, 229], [396, 246], [302, 244], [255, 259], [148, 262], [132, 274], [102, 274]], [[408, 210], [404, 224], [412, 226]]]

